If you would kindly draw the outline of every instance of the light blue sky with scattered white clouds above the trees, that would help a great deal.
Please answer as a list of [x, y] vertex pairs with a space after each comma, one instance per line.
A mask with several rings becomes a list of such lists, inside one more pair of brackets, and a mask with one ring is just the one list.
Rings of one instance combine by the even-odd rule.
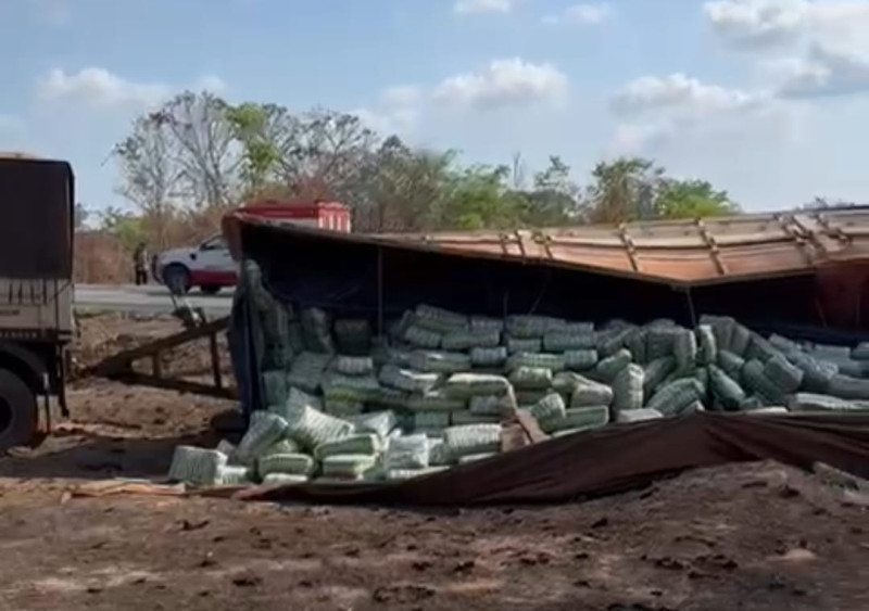
[[[358, 113], [579, 182], [642, 154], [752, 211], [869, 201], [869, 0], [2, 0], [0, 150], [105, 162], [185, 88]], [[862, 36], [861, 36], [862, 35]]]

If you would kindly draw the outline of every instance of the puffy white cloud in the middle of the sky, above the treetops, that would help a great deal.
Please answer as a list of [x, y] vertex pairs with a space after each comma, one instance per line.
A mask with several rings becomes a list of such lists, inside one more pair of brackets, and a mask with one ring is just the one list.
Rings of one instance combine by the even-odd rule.
[[567, 76], [554, 65], [514, 58], [494, 60], [480, 71], [446, 78], [433, 97], [450, 105], [496, 109], [559, 103], [567, 91]]

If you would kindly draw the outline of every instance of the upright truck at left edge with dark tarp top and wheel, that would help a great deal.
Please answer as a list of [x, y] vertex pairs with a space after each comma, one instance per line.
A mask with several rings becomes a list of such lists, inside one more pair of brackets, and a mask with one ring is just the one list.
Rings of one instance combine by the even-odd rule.
[[39, 398], [66, 412], [74, 187], [66, 162], [0, 155], [0, 449], [33, 440]]

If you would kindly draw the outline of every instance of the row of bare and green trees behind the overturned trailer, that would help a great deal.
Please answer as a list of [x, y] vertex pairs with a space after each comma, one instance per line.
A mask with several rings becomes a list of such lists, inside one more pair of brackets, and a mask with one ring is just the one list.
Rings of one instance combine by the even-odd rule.
[[726, 191], [680, 180], [653, 160], [601, 162], [587, 184], [552, 155], [529, 171], [466, 164], [455, 150], [408, 145], [357, 116], [272, 103], [230, 104], [186, 91], [142, 114], [116, 144], [118, 192], [134, 213], [108, 208], [99, 225], [125, 244], [166, 247], [213, 232], [219, 216], [259, 198], [348, 204], [357, 231], [437, 231], [618, 224], [739, 212]]

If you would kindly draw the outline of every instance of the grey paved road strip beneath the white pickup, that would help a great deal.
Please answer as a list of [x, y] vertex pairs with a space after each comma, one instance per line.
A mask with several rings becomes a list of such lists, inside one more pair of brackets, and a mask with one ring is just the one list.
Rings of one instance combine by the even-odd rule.
[[[217, 295], [203, 295], [197, 291], [187, 296], [193, 307], [202, 307], [210, 316], [229, 314], [232, 291], [224, 289]], [[76, 309], [127, 311], [134, 314], [164, 314], [173, 310], [172, 298], [165, 287], [77, 284]]]

